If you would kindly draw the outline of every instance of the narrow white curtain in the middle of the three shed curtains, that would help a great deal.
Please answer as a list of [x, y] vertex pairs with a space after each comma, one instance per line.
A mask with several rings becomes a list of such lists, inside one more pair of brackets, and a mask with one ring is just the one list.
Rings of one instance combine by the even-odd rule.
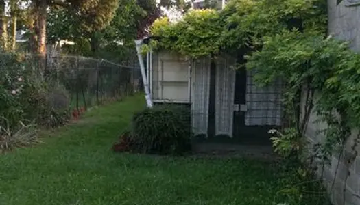
[[216, 60], [215, 84], [215, 135], [232, 137], [235, 98], [234, 61], [226, 58]]

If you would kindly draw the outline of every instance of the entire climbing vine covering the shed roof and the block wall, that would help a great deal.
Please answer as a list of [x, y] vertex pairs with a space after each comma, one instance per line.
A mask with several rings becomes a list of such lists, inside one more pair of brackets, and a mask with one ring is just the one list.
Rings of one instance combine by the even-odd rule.
[[[307, 167], [318, 160], [324, 167], [335, 152], [341, 161], [350, 143], [351, 156], [344, 160], [350, 166], [358, 154], [359, 135], [351, 136], [360, 128], [360, 55], [326, 31], [326, 0], [232, 0], [224, 10], [194, 10], [177, 23], [156, 20], [149, 48], [191, 58], [245, 55], [245, 67], [256, 70], [259, 85], [275, 79], [285, 85], [289, 123], [283, 131], [272, 131], [276, 150]], [[326, 124], [320, 131], [324, 140], [303, 154], [313, 112]]]

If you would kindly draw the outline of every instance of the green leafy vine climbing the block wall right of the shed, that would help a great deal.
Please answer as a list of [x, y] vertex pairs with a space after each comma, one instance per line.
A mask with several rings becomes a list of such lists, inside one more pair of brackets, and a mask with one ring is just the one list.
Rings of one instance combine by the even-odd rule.
[[[256, 69], [257, 80], [262, 84], [278, 78], [283, 80], [286, 111], [293, 119], [291, 126], [296, 128], [298, 137], [305, 137], [314, 111], [321, 117], [320, 121], [326, 122], [322, 143], [307, 153], [311, 155], [307, 169], [313, 170], [315, 160], [320, 160], [324, 166], [337, 152], [341, 158], [347, 143], [352, 150], [346, 164], [352, 165], [358, 154], [359, 135], [353, 141], [349, 139], [352, 130], [360, 128], [359, 54], [350, 51], [348, 44], [331, 37], [324, 39], [315, 33], [283, 31], [265, 38], [262, 50], [248, 57], [247, 66]], [[315, 92], [318, 93], [316, 97]], [[293, 136], [287, 134], [281, 138]], [[297, 144], [296, 141], [273, 139], [278, 151], [288, 151]], [[308, 149], [307, 146], [300, 148], [303, 152]], [[346, 174], [345, 184], [349, 174]]]

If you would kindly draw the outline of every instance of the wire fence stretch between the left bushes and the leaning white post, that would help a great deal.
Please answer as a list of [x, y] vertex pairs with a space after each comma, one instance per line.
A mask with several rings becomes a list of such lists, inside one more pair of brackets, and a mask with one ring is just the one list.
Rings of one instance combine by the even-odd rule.
[[61, 55], [47, 58], [47, 81], [64, 85], [71, 107], [93, 107], [121, 100], [141, 88], [135, 58], [117, 64], [106, 59]]

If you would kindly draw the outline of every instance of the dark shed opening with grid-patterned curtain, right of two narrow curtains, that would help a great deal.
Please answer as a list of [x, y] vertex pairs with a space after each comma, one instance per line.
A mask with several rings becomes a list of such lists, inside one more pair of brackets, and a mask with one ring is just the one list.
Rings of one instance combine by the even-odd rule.
[[281, 83], [259, 87], [254, 74], [237, 70], [233, 132], [243, 144], [269, 144], [268, 131], [282, 123]]

